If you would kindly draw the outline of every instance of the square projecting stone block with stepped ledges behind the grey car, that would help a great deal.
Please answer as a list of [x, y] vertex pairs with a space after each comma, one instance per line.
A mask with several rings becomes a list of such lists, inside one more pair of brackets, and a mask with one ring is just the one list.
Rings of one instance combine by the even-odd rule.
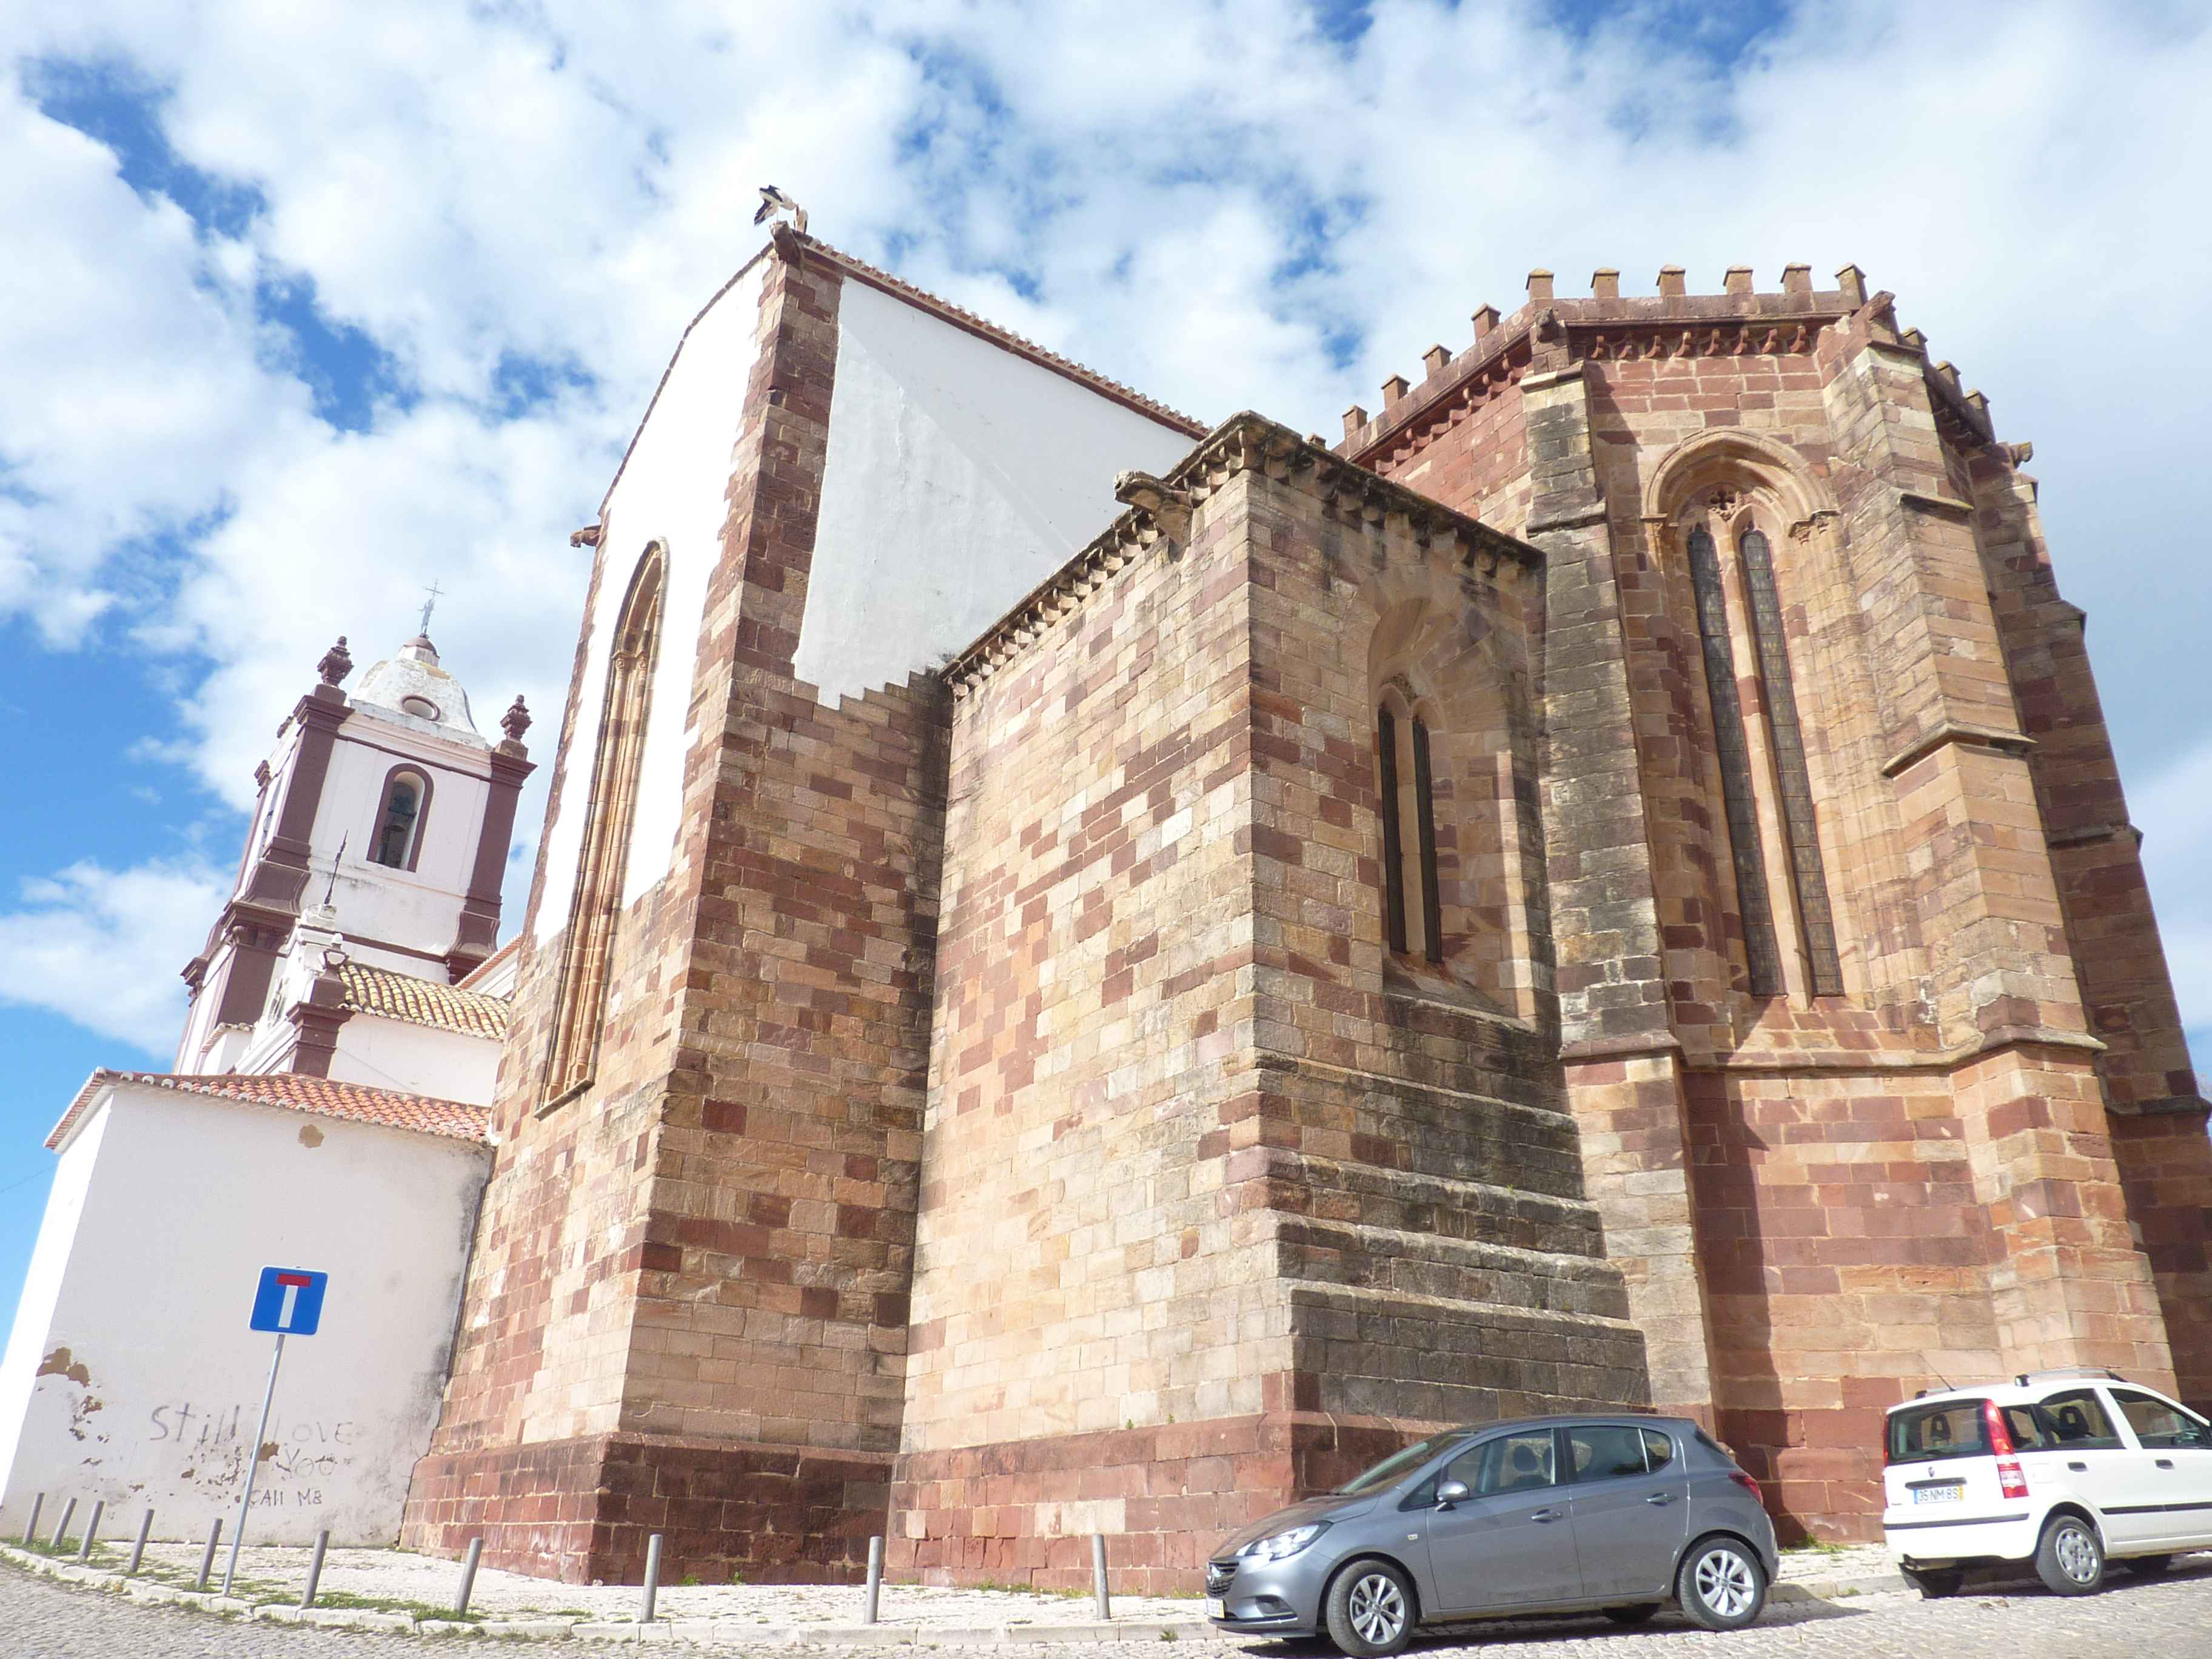
[[1376, 902], [1374, 677], [1517, 818], [1535, 553], [1252, 416], [1152, 500], [951, 670], [891, 1500], [931, 1577], [1073, 1586], [1110, 1531], [1170, 1588], [1420, 1427], [1646, 1398], [1540, 1020]]

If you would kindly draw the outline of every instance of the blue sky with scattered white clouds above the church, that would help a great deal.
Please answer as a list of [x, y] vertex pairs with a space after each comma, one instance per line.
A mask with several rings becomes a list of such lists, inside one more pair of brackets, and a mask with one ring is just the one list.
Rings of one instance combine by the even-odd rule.
[[1531, 265], [1562, 292], [1865, 265], [2037, 445], [2212, 1026], [2212, 719], [2174, 695], [2212, 586], [2205, 394], [2157, 369], [2212, 263], [2181, 206], [2212, 148], [2192, 9], [602, 13], [0, 18], [0, 1285], [73, 1088], [166, 1064], [252, 765], [330, 639], [372, 661], [436, 580], [480, 717], [560, 706], [566, 531], [770, 179], [818, 234], [1177, 407], [1321, 431]]

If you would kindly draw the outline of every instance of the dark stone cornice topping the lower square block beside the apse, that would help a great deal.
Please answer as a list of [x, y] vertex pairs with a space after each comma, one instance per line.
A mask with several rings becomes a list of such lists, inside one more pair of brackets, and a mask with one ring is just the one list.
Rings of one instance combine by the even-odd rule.
[[1449, 544], [1462, 564], [1480, 557], [1489, 568], [1498, 568], [1500, 560], [1526, 568], [1544, 566], [1542, 551], [1526, 542], [1438, 507], [1420, 491], [1356, 467], [1248, 409], [1214, 427], [1166, 478], [1126, 476], [1124, 498], [1137, 504], [945, 664], [942, 675], [953, 695], [967, 697], [978, 681], [1022, 655], [1141, 553], [1159, 544], [1177, 549], [1181, 544], [1177, 526], [1186, 515], [1241, 471], [1265, 471], [1281, 482], [1298, 480], [1340, 522], [1378, 531], [1391, 522], [1405, 524], [1422, 546]]

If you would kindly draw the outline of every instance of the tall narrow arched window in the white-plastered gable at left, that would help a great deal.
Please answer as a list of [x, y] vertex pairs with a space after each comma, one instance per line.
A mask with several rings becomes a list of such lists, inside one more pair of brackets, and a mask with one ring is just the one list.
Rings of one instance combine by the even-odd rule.
[[646, 717], [653, 708], [653, 668], [661, 655], [666, 566], [666, 544], [648, 542], [615, 617], [540, 1110], [588, 1088], [599, 1066], [608, 956], [622, 916], [622, 878], [637, 818], [637, 772], [646, 748]]

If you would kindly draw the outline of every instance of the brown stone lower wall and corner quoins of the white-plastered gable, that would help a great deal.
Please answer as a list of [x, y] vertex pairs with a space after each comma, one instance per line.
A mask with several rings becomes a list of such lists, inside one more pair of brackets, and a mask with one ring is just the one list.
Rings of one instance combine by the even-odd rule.
[[560, 936], [524, 960], [418, 1546], [480, 1531], [493, 1564], [591, 1579], [635, 1575], [664, 1531], [672, 1573], [852, 1577], [880, 1531], [942, 692], [832, 710], [790, 679], [836, 292], [803, 257], [772, 261], [721, 555], [677, 646], [697, 670], [672, 867], [615, 931], [593, 1086], [542, 1115]]

